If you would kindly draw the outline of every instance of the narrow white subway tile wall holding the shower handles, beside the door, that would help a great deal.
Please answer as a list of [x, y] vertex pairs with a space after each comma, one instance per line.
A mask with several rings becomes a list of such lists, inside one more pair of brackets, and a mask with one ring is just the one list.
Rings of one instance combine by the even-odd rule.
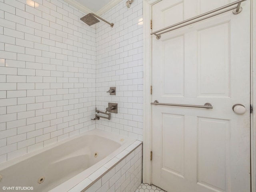
[[[130, 8], [122, 0], [102, 14], [114, 27], [96, 24], [96, 107], [118, 103], [118, 114], [100, 118], [96, 128], [143, 140], [143, 16], [142, 0]], [[107, 93], [116, 87], [116, 95]]]

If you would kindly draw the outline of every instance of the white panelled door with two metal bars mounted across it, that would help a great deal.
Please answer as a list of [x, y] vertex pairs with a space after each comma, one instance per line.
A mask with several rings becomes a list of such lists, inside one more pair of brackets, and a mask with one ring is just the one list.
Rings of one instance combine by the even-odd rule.
[[[162, 0], [152, 32], [228, 3]], [[152, 184], [168, 192], [250, 192], [250, 0], [242, 8], [152, 35], [152, 102], [213, 106], [152, 105]]]

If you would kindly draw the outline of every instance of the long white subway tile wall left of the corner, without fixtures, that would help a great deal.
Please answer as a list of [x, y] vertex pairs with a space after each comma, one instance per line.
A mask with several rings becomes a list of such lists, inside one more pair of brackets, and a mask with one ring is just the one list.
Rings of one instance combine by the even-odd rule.
[[0, 0], [0, 162], [95, 128], [85, 14], [63, 0]]

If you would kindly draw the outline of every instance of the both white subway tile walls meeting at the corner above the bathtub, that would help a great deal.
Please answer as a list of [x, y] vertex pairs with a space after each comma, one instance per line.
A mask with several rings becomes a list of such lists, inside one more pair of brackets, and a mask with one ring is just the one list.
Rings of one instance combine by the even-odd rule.
[[[26, 1], [0, 0], [0, 162], [95, 127], [142, 141], [142, 0], [104, 13], [114, 28], [63, 0]], [[90, 120], [108, 102], [118, 114]]]

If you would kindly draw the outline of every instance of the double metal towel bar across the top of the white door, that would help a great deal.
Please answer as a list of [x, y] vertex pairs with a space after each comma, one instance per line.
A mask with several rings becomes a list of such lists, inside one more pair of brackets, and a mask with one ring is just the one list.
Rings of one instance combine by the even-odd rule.
[[[168, 27], [163, 28], [163, 29], [161, 29], [161, 30], [152, 32], [151, 35], [155, 35], [157, 39], [160, 39], [160, 38], [161, 38], [161, 34], [164, 34], [164, 33], [166, 33], [166, 32], [170, 32], [170, 31], [172, 31], [172, 30], [175, 30], [175, 29], [178, 29], [178, 28], [181, 28], [181, 27], [184, 27], [184, 26], [193, 24], [193, 23], [196, 23], [196, 22], [198, 22], [198, 21], [205, 20], [205, 19], [207, 19], [207, 18], [210, 18], [210, 17], [216, 16], [216, 15], [222, 14], [222, 13], [224, 13], [224, 12], [228, 12], [228, 11], [230, 11], [230, 10], [233, 10], [233, 14], [238, 14], [238, 13], [240, 13], [240, 12], [242, 11], [242, 7], [241, 7], [240, 5], [241, 5], [241, 2], [243, 2], [243, 1], [246, 1], [246, 0], [238, 0], [238, 1], [232, 2], [232, 3], [230, 3], [230, 4], [227, 4], [227, 5], [225, 5], [225, 6], [222, 6], [222, 7], [220, 7], [220, 8], [217, 8], [217, 9], [214, 9], [214, 10], [211, 10], [211, 11], [208, 11], [208, 12], [206, 12], [206, 13], [204, 13], [204, 14], [195, 16], [195, 17], [193, 17], [193, 18], [190, 18], [190, 19], [184, 20], [184, 21], [182, 21], [182, 22], [176, 23], [176, 24], [174, 24], [174, 25], [168, 26]], [[226, 9], [226, 10], [223, 10], [223, 11], [221, 11], [221, 12], [218, 12], [218, 11], [220, 11], [220, 10], [222, 10], [222, 9], [228, 8], [228, 7], [233, 6], [233, 5], [236, 5], [236, 4], [237, 4], [237, 6], [235, 6], [235, 7], [232, 7], [232, 8]], [[212, 13], [214, 13], [214, 12], [217, 12], [217, 13], [212, 14]], [[209, 14], [212, 14], [212, 15], [206, 16], [206, 15], [209, 15]], [[206, 16], [206, 17], [201, 18], [201, 17], [203, 17], [203, 16]], [[199, 18], [199, 19], [198, 19], [198, 18]], [[195, 20], [195, 19], [198, 19], [198, 20]], [[194, 21], [193, 21], [193, 20], [194, 20]], [[191, 21], [191, 22], [190, 22], [190, 21]], [[177, 26], [177, 27], [176, 27], [176, 26]]]

